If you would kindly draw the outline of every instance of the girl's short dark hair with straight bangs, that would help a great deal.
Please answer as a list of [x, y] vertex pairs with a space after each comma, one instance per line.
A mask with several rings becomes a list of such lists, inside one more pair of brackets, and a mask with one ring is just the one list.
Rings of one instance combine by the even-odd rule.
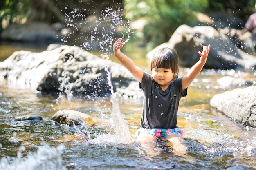
[[171, 48], [162, 48], [155, 52], [150, 69], [153, 68], [166, 68], [171, 69], [173, 73], [178, 72], [179, 58], [177, 52]]

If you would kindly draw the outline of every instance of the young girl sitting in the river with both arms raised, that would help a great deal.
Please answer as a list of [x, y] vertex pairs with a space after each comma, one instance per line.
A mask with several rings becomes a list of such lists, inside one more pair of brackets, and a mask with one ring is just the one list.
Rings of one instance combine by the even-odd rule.
[[139, 88], [144, 92], [141, 128], [137, 130], [137, 140], [142, 144], [154, 144], [157, 141], [171, 141], [174, 145], [183, 138], [183, 130], [177, 127], [177, 111], [181, 97], [187, 95], [187, 88], [200, 73], [206, 63], [211, 46], [204, 46], [199, 51], [200, 60], [192, 66], [182, 78], [178, 78], [179, 58], [171, 48], [159, 49], [150, 64], [151, 75], [144, 72], [120, 49], [125, 42], [119, 38], [113, 45], [117, 59], [139, 81]]

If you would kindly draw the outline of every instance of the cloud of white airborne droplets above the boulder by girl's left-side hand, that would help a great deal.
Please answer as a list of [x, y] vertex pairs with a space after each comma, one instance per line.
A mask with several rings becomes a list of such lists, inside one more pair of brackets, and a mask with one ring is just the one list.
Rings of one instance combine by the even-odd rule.
[[[100, 16], [97, 13], [92, 13], [91, 16], [94, 17], [89, 17], [90, 19], [86, 18], [88, 14], [85, 11], [86, 9], [74, 9], [71, 12], [72, 15], [66, 14], [67, 27], [74, 31], [70, 31], [70, 33], [62, 38], [64, 43], [68, 43], [72, 35], [79, 34], [74, 42], [72, 42], [72, 45], [75, 43], [76, 46], [80, 46], [88, 51], [92, 50], [109, 54], [112, 52], [112, 44], [116, 35], [125, 32], [128, 34], [125, 42], [130, 40], [130, 34], [133, 32], [129, 29], [130, 23], [124, 17], [123, 9], [107, 7], [101, 11]], [[91, 20], [94, 22], [92, 23]], [[79, 40], [81, 40], [81, 43]]]

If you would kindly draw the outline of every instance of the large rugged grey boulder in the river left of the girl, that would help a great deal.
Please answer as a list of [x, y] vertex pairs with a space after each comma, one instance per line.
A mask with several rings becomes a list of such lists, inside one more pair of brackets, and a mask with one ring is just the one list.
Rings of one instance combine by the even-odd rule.
[[110, 95], [109, 82], [114, 92], [122, 92], [122, 95], [130, 96], [129, 88], [138, 88], [137, 83], [134, 87], [132, 82], [136, 80], [124, 66], [75, 46], [61, 46], [41, 53], [14, 52], [0, 62], [0, 76], [41, 92], [88, 97]]

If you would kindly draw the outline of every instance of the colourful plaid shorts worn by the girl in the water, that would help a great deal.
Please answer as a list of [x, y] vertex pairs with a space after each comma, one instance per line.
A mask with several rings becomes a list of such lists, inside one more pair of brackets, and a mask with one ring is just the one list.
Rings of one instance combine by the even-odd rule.
[[180, 128], [175, 129], [144, 129], [140, 128], [136, 131], [136, 136], [138, 137], [139, 134], [143, 133], [144, 135], [151, 135], [157, 139], [157, 141], [163, 141], [169, 135], [179, 135], [180, 137], [184, 138], [183, 130]]

